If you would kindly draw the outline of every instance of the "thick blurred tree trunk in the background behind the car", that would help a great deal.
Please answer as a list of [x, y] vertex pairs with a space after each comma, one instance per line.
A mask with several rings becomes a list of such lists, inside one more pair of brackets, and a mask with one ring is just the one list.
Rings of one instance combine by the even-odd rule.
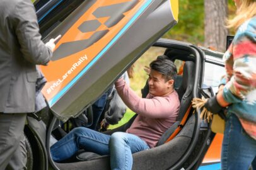
[[204, 0], [204, 46], [226, 50], [228, 0]]

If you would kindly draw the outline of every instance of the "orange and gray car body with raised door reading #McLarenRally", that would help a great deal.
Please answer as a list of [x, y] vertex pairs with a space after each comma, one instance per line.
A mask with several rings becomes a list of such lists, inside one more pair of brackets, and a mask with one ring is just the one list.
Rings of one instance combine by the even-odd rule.
[[[48, 81], [42, 89], [48, 107], [27, 119], [28, 169], [110, 169], [109, 156], [55, 163], [49, 154], [52, 131], [59, 127], [59, 121], [66, 122], [90, 108], [151, 46], [164, 48], [164, 54], [173, 61], [192, 63], [187, 79], [193, 79], [185, 89], [189, 98], [182, 94], [186, 105], [188, 99], [200, 97], [201, 91], [216, 92], [219, 76], [224, 74], [221, 53], [187, 42], [159, 39], [177, 24], [176, 0], [40, 0], [34, 4], [44, 41], [59, 34], [62, 37], [52, 61], [41, 67]], [[188, 113], [182, 130], [170, 142], [133, 155], [134, 169], [197, 169], [202, 162], [219, 162], [219, 157], [205, 157], [215, 136], [209, 123], [200, 120], [200, 111]]]

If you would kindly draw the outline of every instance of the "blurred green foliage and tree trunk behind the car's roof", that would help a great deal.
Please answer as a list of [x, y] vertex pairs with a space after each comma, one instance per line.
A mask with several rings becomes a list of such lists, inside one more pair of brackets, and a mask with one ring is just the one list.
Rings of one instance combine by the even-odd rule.
[[179, 0], [178, 24], [163, 37], [224, 52], [226, 35], [234, 34], [225, 28], [225, 21], [235, 10], [232, 0]]

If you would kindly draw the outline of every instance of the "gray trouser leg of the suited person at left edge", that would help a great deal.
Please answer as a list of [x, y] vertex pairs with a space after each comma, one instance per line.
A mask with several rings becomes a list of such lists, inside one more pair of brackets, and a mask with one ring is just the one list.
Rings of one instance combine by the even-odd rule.
[[[0, 169], [5, 169], [15, 152], [21, 152], [20, 141], [26, 113], [0, 113]], [[23, 160], [17, 159], [23, 164]]]

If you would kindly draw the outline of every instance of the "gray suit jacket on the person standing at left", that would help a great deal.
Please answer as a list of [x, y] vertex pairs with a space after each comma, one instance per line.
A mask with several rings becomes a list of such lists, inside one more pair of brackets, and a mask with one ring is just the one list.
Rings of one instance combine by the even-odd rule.
[[41, 40], [30, 0], [0, 1], [0, 112], [35, 111], [36, 64], [52, 52]]

